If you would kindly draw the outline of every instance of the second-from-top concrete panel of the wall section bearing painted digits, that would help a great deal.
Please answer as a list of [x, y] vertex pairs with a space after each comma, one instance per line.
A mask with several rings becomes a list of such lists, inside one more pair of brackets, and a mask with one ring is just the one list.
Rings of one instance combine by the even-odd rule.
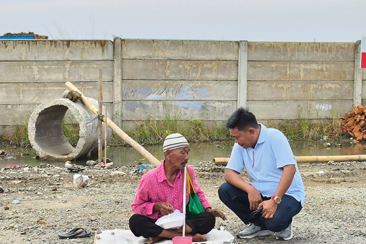
[[248, 62], [248, 80], [353, 79], [354, 62]]

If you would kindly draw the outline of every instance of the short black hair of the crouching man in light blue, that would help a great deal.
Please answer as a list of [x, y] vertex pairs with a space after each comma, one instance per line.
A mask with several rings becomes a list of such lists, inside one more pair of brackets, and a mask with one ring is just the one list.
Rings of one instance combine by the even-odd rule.
[[236, 127], [240, 131], [249, 127], [258, 128], [258, 126], [257, 119], [255, 119], [253, 113], [249, 112], [248, 108], [243, 107], [236, 109], [226, 122], [227, 128], [234, 129]]

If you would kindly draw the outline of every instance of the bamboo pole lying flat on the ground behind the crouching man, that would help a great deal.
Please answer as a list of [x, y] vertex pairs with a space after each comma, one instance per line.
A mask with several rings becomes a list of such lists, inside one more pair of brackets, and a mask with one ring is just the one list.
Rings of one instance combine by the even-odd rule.
[[[212, 162], [216, 165], [226, 165], [230, 158], [214, 158]], [[320, 163], [333, 160], [334, 162], [366, 161], [366, 155], [343, 155], [343, 156], [297, 156], [298, 163]]]

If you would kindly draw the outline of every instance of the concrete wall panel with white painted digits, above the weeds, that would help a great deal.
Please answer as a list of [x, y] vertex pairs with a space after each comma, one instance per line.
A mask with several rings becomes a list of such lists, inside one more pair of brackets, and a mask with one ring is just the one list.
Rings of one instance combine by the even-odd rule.
[[317, 101], [248, 101], [248, 108], [258, 120], [297, 119], [299, 106], [309, 119], [337, 117], [352, 110], [353, 100], [317, 100]]

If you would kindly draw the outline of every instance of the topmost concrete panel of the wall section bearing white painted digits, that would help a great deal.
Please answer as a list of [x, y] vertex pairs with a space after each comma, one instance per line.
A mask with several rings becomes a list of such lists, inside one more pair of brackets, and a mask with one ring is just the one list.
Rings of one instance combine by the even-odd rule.
[[355, 61], [354, 42], [248, 42], [249, 61]]

